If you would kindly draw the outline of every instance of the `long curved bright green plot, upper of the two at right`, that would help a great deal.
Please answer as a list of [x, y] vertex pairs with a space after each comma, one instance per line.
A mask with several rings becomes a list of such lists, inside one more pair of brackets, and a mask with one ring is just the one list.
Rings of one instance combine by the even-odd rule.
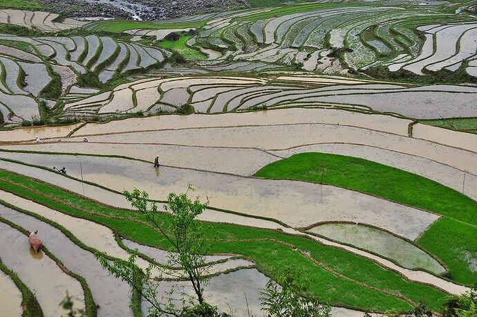
[[351, 156], [303, 153], [271, 163], [255, 176], [335, 185], [477, 224], [477, 203], [425, 177]]

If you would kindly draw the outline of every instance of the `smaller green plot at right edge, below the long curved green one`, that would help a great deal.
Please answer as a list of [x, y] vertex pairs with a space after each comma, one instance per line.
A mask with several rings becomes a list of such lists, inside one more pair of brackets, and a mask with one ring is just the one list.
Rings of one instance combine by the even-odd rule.
[[418, 244], [444, 261], [457, 282], [477, 283], [477, 228], [449, 218], [436, 221]]

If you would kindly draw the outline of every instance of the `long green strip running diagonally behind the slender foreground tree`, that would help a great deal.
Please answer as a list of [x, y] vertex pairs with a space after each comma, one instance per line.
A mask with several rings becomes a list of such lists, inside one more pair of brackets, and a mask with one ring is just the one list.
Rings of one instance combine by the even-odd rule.
[[[164, 237], [137, 221], [144, 220], [143, 216], [137, 212], [103, 206], [52, 185], [3, 170], [0, 170], [0, 179], [3, 180], [0, 181], [2, 190], [15, 192], [21, 197], [68, 215], [103, 224], [136, 242], [169, 248]], [[131, 219], [113, 219], [111, 216]], [[169, 230], [167, 216], [161, 215], [159, 220], [163, 227]], [[393, 294], [406, 296], [414, 302], [423, 301], [436, 311], [440, 310], [442, 302], [446, 298], [446, 294], [438, 289], [408, 282], [395, 272], [386, 270], [371, 260], [339, 248], [324, 246], [306, 237], [285, 235], [276, 230], [231, 224], [203, 224], [200, 226], [207, 226], [208, 237], [219, 239], [214, 243], [212, 253], [243, 255], [253, 260], [260, 271], [269, 275], [272, 275], [274, 271], [284, 271], [288, 266], [298, 266], [310, 278], [310, 291], [330, 304], [377, 311], [411, 309], [411, 305], [400, 298], [364, 287], [352, 280]], [[241, 241], [234, 241], [235, 239]], [[326, 271], [303, 253], [309, 254], [313, 260], [352, 280]]]

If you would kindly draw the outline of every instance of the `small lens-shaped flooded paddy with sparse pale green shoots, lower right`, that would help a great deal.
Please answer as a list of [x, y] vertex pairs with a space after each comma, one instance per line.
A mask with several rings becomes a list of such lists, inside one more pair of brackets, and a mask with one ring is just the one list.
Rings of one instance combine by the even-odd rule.
[[355, 224], [322, 224], [309, 231], [382, 255], [407, 269], [425, 269], [435, 274], [445, 272], [431, 255], [382, 230]]

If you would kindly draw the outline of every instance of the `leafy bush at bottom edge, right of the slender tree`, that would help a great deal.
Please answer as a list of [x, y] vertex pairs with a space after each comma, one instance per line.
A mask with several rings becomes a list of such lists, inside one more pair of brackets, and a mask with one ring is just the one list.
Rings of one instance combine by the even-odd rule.
[[269, 317], [329, 317], [331, 307], [309, 295], [309, 281], [293, 269], [286, 269], [261, 290], [262, 309]]

